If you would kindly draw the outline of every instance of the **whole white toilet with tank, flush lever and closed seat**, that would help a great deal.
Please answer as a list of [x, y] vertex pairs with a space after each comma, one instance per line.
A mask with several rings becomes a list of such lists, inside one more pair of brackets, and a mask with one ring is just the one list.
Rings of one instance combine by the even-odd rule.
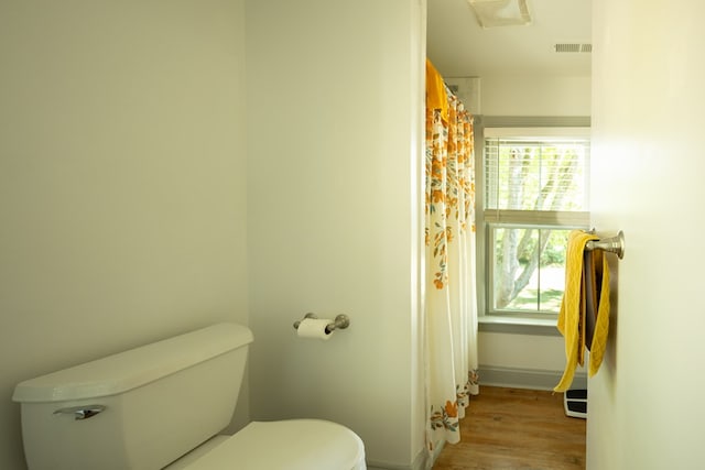
[[17, 385], [30, 470], [365, 470], [321, 419], [228, 426], [252, 332], [218, 324]]

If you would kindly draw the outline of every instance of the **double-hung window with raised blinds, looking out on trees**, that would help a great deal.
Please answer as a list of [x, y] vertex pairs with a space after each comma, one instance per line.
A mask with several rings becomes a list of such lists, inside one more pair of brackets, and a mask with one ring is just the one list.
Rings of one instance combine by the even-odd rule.
[[552, 318], [567, 236], [589, 223], [586, 128], [486, 128], [481, 211], [485, 310]]

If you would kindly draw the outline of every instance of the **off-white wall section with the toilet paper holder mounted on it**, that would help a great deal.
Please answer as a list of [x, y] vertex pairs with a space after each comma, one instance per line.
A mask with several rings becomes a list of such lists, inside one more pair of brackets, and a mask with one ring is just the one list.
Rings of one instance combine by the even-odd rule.
[[[347, 425], [376, 466], [422, 450], [417, 149], [425, 2], [247, 2], [254, 419]], [[307, 311], [347, 314], [326, 342]]]

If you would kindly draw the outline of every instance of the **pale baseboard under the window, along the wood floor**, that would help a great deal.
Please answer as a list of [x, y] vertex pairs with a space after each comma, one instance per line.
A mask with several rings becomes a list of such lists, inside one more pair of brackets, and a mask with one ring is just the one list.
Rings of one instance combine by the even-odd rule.
[[[561, 382], [563, 371], [542, 369], [513, 369], [496, 365], [479, 367], [480, 386], [509, 386], [514, 389], [553, 390]], [[572, 389], [587, 389], [587, 374], [576, 372]]]

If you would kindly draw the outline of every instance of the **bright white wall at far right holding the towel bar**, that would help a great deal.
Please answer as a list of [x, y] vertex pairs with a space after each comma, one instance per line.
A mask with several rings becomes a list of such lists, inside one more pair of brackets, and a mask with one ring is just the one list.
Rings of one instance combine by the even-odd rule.
[[588, 469], [703, 466], [703, 15], [694, 0], [594, 2], [593, 214], [626, 253]]

